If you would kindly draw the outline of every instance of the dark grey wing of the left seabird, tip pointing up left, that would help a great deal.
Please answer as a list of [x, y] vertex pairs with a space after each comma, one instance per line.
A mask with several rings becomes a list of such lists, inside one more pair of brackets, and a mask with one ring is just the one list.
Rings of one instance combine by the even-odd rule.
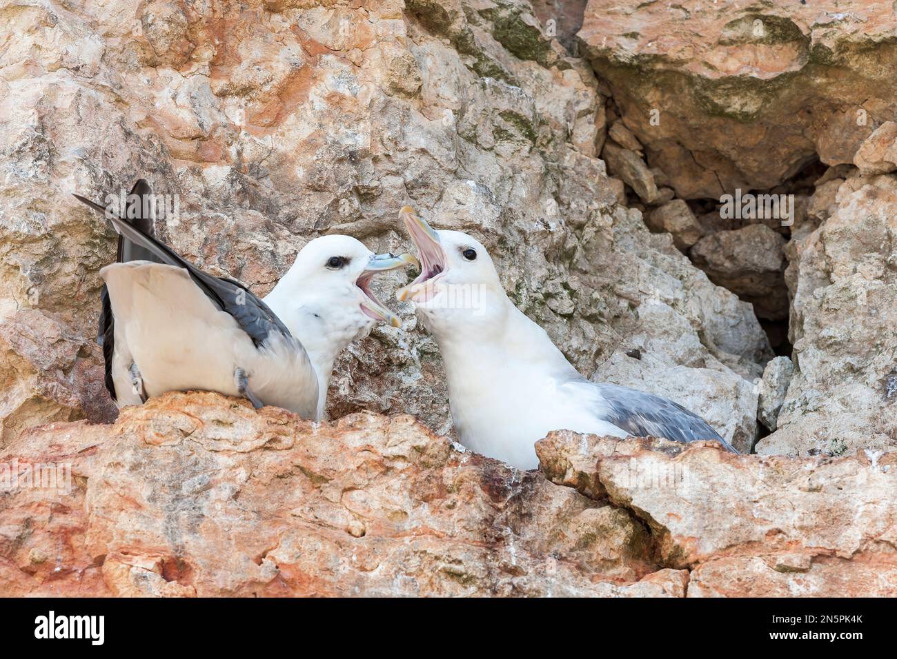
[[[100, 206], [100, 204], [94, 204], [90, 199], [86, 199], [81, 195], [74, 196], [79, 201], [105, 215], [106, 209]], [[272, 332], [282, 334], [284, 338], [298, 343], [292, 337], [286, 325], [283, 325], [280, 318], [268, 308], [265, 302], [258, 299], [256, 295], [242, 284], [204, 273], [196, 265], [182, 258], [160, 240], [135, 229], [127, 221], [117, 217], [110, 217], [109, 220], [112, 221], [122, 236], [135, 243], [138, 247], [149, 250], [154, 256], [152, 260], [187, 270], [196, 286], [205, 293], [207, 298], [212, 300], [215, 306], [233, 316], [240, 329], [246, 332], [249, 338], [252, 339], [252, 343], [255, 343], [257, 346], [261, 345], [268, 337], [268, 334]]]

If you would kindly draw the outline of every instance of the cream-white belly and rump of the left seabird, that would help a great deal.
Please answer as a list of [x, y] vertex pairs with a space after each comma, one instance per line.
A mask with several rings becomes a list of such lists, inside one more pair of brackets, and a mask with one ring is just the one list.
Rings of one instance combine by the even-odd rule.
[[257, 349], [186, 270], [132, 261], [109, 265], [100, 274], [115, 316], [113, 377], [119, 404], [135, 403], [126, 372], [132, 361], [151, 396], [189, 389], [239, 395], [234, 382], [239, 367], [263, 403], [316, 417], [318, 380], [305, 352], [274, 337]]

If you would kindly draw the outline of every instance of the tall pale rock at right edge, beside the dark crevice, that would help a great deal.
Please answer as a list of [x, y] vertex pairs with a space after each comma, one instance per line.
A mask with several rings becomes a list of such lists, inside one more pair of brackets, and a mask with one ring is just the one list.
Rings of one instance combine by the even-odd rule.
[[[826, 184], [829, 185], [829, 184]], [[792, 238], [794, 378], [763, 454], [897, 448], [897, 178], [848, 178], [818, 229]]]

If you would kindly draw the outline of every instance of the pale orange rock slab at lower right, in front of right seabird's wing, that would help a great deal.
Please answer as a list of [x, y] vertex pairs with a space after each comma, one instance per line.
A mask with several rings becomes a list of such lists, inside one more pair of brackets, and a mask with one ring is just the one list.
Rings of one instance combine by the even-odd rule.
[[568, 431], [536, 453], [552, 481], [649, 525], [664, 564], [690, 570], [689, 596], [897, 594], [897, 453], [731, 455]]

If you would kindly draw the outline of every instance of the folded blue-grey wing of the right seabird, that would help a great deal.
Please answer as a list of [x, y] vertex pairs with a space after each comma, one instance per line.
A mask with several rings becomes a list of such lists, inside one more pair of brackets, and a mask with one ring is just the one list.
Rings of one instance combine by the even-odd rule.
[[677, 442], [716, 439], [729, 452], [738, 453], [716, 430], [710, 428], [707, 421], [679, 403], [627, 386], [593, 385], [607, 405], [603, 414], [605, 420], [634, 437], [662, 437]]

